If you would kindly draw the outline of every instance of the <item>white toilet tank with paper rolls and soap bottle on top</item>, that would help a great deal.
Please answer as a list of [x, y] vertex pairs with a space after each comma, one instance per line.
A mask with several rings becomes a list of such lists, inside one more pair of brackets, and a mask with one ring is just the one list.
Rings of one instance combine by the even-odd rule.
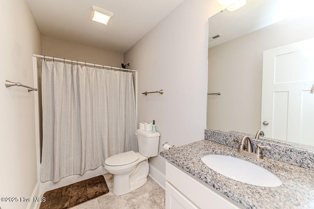
[[138, 152], [145, 157], [155, 157], [158, 155], [159, 132], [137, 131]]

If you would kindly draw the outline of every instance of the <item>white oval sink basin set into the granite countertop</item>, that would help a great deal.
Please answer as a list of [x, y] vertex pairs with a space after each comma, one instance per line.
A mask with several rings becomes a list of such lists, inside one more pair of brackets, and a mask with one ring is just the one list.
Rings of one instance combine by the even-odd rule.
[[202, 161], [212, 170], [239, 182], [257, 186], [279, 186], [281, 180], [270, 171], [243, 159], [222, 155], [208, 155]]

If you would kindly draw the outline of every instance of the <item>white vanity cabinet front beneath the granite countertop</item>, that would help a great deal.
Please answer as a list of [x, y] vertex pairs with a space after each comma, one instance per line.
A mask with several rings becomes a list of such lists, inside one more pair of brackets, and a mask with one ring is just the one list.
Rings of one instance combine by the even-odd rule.
[[227, 197], [166, 161], [166, 209], [241, 209]]

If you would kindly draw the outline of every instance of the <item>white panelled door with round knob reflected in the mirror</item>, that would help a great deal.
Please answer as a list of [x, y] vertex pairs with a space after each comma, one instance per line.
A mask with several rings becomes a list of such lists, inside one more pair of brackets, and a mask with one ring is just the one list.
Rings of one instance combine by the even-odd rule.
[[266, 137], [314, 145], [313, 83], [314, 39], [263, 52], [261, 129]]

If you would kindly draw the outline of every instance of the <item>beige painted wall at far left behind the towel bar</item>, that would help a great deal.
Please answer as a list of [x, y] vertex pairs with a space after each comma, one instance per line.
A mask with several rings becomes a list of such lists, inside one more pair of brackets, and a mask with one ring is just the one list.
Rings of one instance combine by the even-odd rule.
[[[37, 183], [34, 94], [5, 88], [4, 80], [33, 84], [32, 53], [41, 53], [41, 34], [25, 0], [0, 1], [0, 197], [30, 198]], [[27, 202], [0, 202], [25, 209]]]

